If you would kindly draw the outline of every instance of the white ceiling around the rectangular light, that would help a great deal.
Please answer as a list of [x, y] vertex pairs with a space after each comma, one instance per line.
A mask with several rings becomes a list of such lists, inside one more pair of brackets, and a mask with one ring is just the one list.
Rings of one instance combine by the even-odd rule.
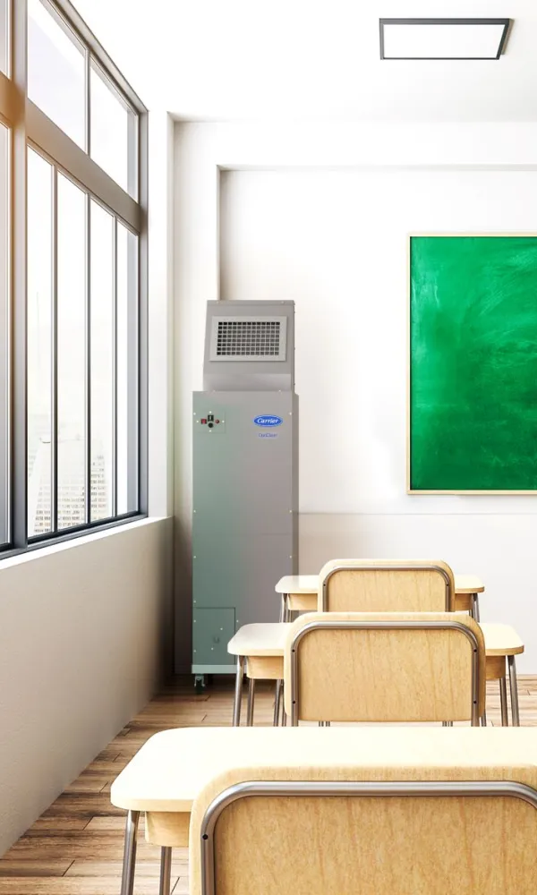
[[[180, 118], [537, 120], [537, 0], [73, 0]], [[379, 17], [515, 20], [498, 62], [380, 62]]]

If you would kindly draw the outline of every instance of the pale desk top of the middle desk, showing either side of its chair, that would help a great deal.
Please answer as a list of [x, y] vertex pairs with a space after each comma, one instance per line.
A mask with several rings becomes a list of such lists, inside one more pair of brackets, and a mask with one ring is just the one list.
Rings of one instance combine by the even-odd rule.
[[[283, 656], [291, 625], [292, 622], [243, 625], [227, 644], [227, 652], [234, 656]], [[524, 652], [522, 640], [510, 625], [483, 622], [481, 628], [487, 656], [516, 656]]]

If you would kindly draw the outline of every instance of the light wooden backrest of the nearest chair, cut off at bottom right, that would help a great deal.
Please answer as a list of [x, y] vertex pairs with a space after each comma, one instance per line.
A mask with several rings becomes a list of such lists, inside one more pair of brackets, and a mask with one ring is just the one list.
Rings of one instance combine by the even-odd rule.
[[277, 776], [267, 764], [211, 780], [192, 809], [191, 895], [533, 893], [534, 764], [519, 782], [426, 764], [401, 766], [395, 741], [388, 767], [304, 754]]

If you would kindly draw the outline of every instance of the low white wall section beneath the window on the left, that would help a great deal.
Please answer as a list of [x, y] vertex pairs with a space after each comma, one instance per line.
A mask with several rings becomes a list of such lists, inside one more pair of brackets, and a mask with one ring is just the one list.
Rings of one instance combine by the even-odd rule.
[[170, 519], [0, 566], [0, 855], [169, 670]]

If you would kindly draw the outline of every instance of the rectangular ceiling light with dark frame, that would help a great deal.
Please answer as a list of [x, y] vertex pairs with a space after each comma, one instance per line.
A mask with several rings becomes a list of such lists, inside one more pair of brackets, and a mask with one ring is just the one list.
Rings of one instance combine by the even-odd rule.
[[499, 59], [509, 19], [380, 19], [381, 59]]

